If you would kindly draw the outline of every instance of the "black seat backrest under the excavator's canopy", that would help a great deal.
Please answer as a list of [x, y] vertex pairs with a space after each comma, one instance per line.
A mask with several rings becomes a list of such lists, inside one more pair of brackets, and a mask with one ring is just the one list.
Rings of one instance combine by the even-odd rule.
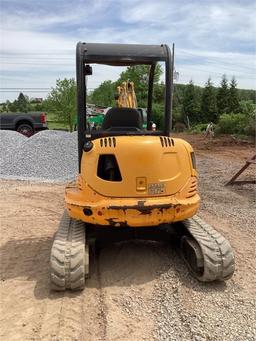
[[123, 127], [124, 130], [129, 128], [142, 129], [142, 119], [139, 111], [134, 108], [111, 108], [106, 113], [102, 130], [115, 127]]

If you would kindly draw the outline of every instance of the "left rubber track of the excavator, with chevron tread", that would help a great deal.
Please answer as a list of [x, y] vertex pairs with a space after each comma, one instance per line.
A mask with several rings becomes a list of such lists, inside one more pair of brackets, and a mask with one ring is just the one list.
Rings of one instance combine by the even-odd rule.
[[65, 210], [55, 235], [50, 258], [51, 288], [78, 290], [85, 286], [89, 273], [89, 250], [85, 224], [69, 217]]

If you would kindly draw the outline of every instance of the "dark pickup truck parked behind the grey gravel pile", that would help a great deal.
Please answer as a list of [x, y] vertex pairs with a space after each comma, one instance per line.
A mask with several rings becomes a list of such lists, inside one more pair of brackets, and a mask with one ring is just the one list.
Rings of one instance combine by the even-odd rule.
[[39, 130], [48, 129], [46, 114], [44, 112], [3, 112], [0, 113], [0, 129], [16, 130], [29, 137]]

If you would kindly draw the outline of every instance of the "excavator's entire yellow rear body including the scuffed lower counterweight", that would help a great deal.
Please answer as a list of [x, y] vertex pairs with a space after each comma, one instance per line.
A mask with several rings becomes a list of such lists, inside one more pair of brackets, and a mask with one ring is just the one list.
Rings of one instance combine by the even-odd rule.
[[[94, 140], [77, 182], [66, 188], [69, 215], [103, 226], [154, 226], [193, 216], [200, 198], [191, 152], [187, 142], [159, 136]], [[115, 155], [121, 181], [97, 175], [104, 154]]]

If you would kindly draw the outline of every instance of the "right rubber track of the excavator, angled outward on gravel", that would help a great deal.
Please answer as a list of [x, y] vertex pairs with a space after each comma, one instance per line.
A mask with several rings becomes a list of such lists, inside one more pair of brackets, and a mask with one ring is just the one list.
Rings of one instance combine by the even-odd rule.
[[198, 242], [203, 253], [204, 271], [202, 275], [195, 274], [197, 279], [211, 282], [232, 277], [235, 261], [230, 243], [198, 216], [187, 219], [183, 223]]

